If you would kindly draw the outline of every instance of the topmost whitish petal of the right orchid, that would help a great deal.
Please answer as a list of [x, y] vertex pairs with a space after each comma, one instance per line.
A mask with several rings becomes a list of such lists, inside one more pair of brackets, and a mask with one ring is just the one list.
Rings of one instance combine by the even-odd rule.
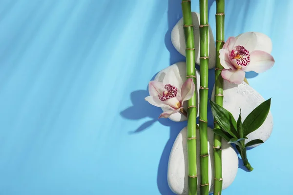
[[250, 53], [254, 50], [257, 43], [257, 37], [253, 32], [243, 33], [239, 36], [239, 38], [235, 42], [235, 46], [243, 46], [247, 49]]

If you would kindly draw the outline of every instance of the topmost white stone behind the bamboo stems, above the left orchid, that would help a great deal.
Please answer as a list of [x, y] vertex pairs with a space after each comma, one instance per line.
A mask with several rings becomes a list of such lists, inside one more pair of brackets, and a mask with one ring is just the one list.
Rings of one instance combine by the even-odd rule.
[[[195, 48], [195, 63], [199, 64], [200, 57], [200, 45], [199, 45], [199, 13], [192, 12], [192, 24], [193, 24], [193, 34], [194, 34], [194, 48]], [[176, 48], [176, 50], [185, 56], [185, 37], [183, 30], [183, 18], [181, 18], [171, 32], [171, 41]], [[215, 67], [216, 58], [216, 48], [215, 41], [212, 35], [211, 28], [209, 27], [209, 69]]]

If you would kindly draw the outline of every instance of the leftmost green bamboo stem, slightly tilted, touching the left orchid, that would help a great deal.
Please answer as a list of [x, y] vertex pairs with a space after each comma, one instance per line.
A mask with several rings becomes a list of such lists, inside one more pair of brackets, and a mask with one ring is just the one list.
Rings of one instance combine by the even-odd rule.
[[[196, 86], [195, 74], [195, 48], [193, 38], [193, 25], [191, 16], [191, 2], [182, 0], [182, 13], [184, 22], [184, 35], [186, 42], [186, 73], [192, 78]], [[197, 195], [197, 167], [196, 167], [196, 92], [188, 100], [187, 148], [188, 148], [188, 195]]]

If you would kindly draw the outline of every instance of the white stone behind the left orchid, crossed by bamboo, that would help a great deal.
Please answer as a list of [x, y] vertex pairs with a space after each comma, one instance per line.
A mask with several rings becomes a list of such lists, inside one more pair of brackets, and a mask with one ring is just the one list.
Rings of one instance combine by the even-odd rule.
[[[180, 78], [181, 78], [180, 81], [177, 81], [177, 80], [175, 80], [176, 78], [174, 77], [174, 82], [184, 83], [186, 81], [186, 63], [184, 61], [176, 62], [173, 65], [168, 66], [167, 68], [161, 70], [156, 75], [154, 80], [163, 82], [165, 76], [168, 75], [168, 74], [173, 74], [173, 71], [179, 73]], [[200, 82], [200, 74], [199, 74], [198, 70], [196, 70], [196, 79], [197, 79], [197, 83], [199, 83]], [[196, 86], [197, 99], [199, 99], [199, 93], [198, 92], [199, 92], [199, 84], [197, 84], [197, 86]], [[187, 101], [184, 102], [183, 107], [184, 107], [185, 110], [187, 109]], [[199, 108], [198, 101], [197, 101], [197, 108]], [[162, 108], [162, 110], [163, 110], [163, 112], [166, 111], [166, 109], [164, 109], [164, 108]], [[198, 109], [197, 109], [197, 117], [198, 116], [199, 116], [199, 112], [198, 112]], [[169, 117], [169, 119], [172, 120], [172, 121], [175, 121], [175, 122], [187, 120], [187, 118], [183, 114], [181, 114], [179, 112], [172, 114]]]

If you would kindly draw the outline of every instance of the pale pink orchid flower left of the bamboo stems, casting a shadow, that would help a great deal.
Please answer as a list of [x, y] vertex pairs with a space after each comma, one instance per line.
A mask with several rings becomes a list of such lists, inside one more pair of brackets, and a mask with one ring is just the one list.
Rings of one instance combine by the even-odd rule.
[[148, 84], [150, 96], [145, 99], [154, 106], [165, 108], [167, 111], [163, 112], [159, 118], [167, 118], [183, 109], [183, 102], [193, 96], [194, 90], [195, 85], [191, 78], [183, 83], [181, 89], [170, 83], [152, 80]]

